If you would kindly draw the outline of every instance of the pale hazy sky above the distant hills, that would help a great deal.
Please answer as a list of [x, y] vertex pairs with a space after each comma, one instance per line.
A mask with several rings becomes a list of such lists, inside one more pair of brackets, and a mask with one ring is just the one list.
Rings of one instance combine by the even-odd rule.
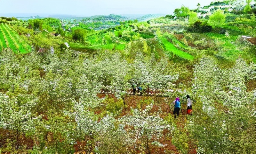
[[189, 9], [214, 0], [0, 0], [4, 13], [67, 14], [76, 16], [109, 14], [173, 14], [182, 4]]

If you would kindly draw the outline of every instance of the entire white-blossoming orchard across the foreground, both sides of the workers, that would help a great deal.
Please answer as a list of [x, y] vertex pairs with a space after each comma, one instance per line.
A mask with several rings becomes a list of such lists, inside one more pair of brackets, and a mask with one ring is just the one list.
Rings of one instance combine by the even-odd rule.
[[[159, 142], [161, 137], [171, 138], [182, 153], [188, 152], [191, 141], [196, 142], [198, 152], [205, 153], [255, 150], [256, 92], [246, 88], [248, 81], [255, 80], [255, 64], [238, 59], [234, 66], [220, 68], [215, 59], [206, 57], [195, 65], [193, 86], [177, 87], [172, 83], [179, 76], [172, 72], [178, 68], [170, 69], [175, 64], [170, 65], [165, 58], [156, 60], [154, 55], [138, 53], [128, 61], [119, 53], [106, 51], [92, 58], [66, 50], [58, 56], [50, 52], [1, 52], [0, 126], [14, 134], [11, 140], [8, 135], [1, 136], [2, 152], [30, 149], [35, 153], [72, 153], [76, 148], [150, 153], [153, 145], [166, 148]], [[194, 116], [182, 121], [181, 129], [172, 116], [150, 112], [150, 98], [143, 102], [146, 108], [131, 109], [120, 116], [126, 107], [123, 96], [133, 82], [177, 89], [168, 95], [181, 98], [187, 94], [183, 89], [192, 88]], [[100, 99], [97, 93], [101, 88], [112, 90], [124, 103]], [[33, 144], [25, 144], [24, 138]]]

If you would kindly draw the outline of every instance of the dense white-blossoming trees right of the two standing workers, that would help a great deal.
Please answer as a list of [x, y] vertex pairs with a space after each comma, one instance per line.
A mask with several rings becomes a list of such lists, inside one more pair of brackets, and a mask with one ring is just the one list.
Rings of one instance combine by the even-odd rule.
[[204, 58], [195, 66], [194, 76], [196, 110], [202, 114], [190, 118], [189, 131], [199, 141], [198, 152], [255, 151], [254, 143], [242, 145], [251, 142], [247, 138], [256, 140], [250, 127], [256, 121], [255, 90], [246, 88], [246, 82], [255, 79], [255, 65], [238, 58], [233, 67], [220, 68], [213, 59]]

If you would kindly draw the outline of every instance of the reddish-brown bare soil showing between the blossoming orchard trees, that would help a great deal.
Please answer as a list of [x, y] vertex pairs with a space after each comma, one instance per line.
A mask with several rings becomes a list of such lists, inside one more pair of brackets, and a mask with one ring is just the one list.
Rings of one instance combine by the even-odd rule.
[[[249, 81], [249, 82], [250, 83], [253, 82], [256, 84], [256, 81]], [[153, 91], [152, 91], [152, 93], [153, 93]], [[157, 92], [155, 92], [155, 93], [157, 93]], [[117, 101], [117, 98], [114, 96], [114, 94], [103, 94], [103, 93], [97, 94], [97, 96], [99, 98], [104, 98], [107, 95], [108, 95], [108, 97], [114, 98], [114, 100]], [[153, 108], [151, 109], [151, 112], [157, 112], [161, 108], [162, 114], [160, 116], [162, 118], [164, 118], [166, 115], [168, 115], [170, 113], [172, 114], [173, 104], [172, 104], [172, 102], [167, 101], [166, 97], [156, 96], [156, 95], [153, 95], [153, 96], [127, 95], [124, 99], [126, 108], [123, 109], [123, 112], [120, 116], [130, 114], [130, 108], [140, 108], [141, 107], [142, 109], [144, 109], [146, 107], [146, 105], [150, 103], [150, 101], [148, 101], [148, 100], [154, 101], [154, 105], [153, 105]], [[174, 100], [174, 98], [173, 98], [173, 100]], [[100, 114], [103, 110], [104, 110], [104, 108], [95, 109], [95, 114]], [[187, 119], [186, 116], [184, 116], [185, 114], [186, 114], [186, 104], [181, 104], [180, 116], [179, 116], [179, 118], [177, 118], [177, 120], [175, 122], [178, 128], [184, 129], [184, 124], [186, 123], [186, 119]], [[47, 116], [45, 116], [44, 119], [48, 120]], [[166, 137], [167, 133], [168, 133], [168, 130], [163, 131], [164, 136], [162, 138], [158, 139], [158, 141], [160, 143], [162, 143], [164, 145], [164, 147], [158, 147], [158, 146], [151, 145], [151, 144], [149, 145], [151, 154], [180, 153], [179, 150], [175, 147], [175, 145], [172, 144], [171, 136]], [[7, 143], [6, 142], [7, 138], [9, 138], [12, 141], [16, 140], [16, 132], [12, 131], [12, 130], [0, 129], [0, 147], [6, 147], [5, 144]], [[52, 142], [52, 133], [48, 132], [46, 138], [47, 138], [47, 142], [49, 142], [49, 143]], [[19, 140], [20, 140], [21, 146], [26, 145], [27, 149], [33, 148], [34, 143], [31, 138], [27, 138], [23, 134], [20, 134]], [[82, 142], [77, 141], [76, 142], [76, 144], [74, 145], [76, 154], [85, 154], [88, 151], [90, 151], [90, 152], [92, 151], [93, 148], [89, 147], [87, 144], [88, 140], [90, 140], [90, 139], [87, 138], [87, 139], [85, 139], [85, 141], [82, 141]], [[138, 144], [140, 144], [140, 143], [138, 143]], [[196, 144], [189, 141], [188, 153], [195, 154], [196, 149], [197, 149]], [[140, 153], [141, 151], [137, 150], [137, 152]]]

